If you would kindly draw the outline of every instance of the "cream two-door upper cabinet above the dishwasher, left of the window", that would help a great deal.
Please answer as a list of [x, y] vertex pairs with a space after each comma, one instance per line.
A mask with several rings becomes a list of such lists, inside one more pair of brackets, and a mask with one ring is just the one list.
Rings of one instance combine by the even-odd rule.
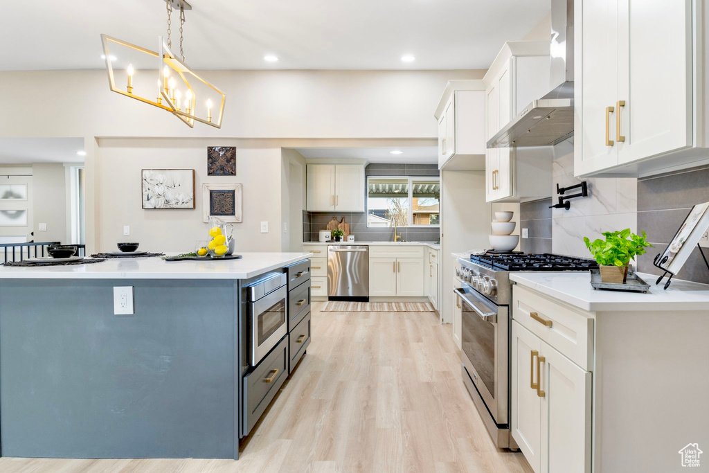
[[364, 212], [364, 166], [307, 165], [308, 211]]

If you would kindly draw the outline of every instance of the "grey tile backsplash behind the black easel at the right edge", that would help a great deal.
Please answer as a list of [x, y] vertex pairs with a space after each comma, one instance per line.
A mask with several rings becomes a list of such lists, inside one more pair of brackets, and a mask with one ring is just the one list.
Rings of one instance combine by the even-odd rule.
[[[638, 179], [637, 227], [647, 233], [647, 241], [653, 245], [647, 249], [647, 254], [638, 257], [641, 272], [661, 274], [652, 260], [664, 252], [690, 209], [709, 201], [708, 183], [709, 166]], [[709, 248], [704, 249], [704, 254], [709, 257]], [[709, 269], [698, 248], [693, 250], [677, 277], [709, 284]]]

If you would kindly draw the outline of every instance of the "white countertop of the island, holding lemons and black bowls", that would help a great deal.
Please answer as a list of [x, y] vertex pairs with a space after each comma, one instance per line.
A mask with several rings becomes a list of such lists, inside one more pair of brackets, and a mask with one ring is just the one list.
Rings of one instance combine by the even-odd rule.
[[111, 258], [91, 265], [4, 267], [0, 279], [248, 279], [292, 265], [313, 253], [239, 253], [240, 260], [164, 261]]

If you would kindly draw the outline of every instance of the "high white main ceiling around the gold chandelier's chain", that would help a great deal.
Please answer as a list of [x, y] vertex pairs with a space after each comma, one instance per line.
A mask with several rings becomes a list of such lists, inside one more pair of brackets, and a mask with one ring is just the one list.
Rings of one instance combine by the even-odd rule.
[[[523, 38], [549, 13], [549, 0], [190, 3], [184, 50], [196, 69], [487, 69], [505, 41]], [[166, 35], [164, 7], [163, 0], [5, 1], [0, 70], [101, 69], [101, 33], [155, 50], [157, 35]], [[177, 38], [179, 12], [173, 46]], [[265, 62], [267, 54], [279, 61]], [[406, 54], [416, 60], [401, 62]]]

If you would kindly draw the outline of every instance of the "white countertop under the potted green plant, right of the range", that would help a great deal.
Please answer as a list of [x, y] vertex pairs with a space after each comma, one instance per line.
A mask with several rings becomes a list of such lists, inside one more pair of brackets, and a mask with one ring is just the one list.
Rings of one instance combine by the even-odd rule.
[[657, 276], [637, 274], [650, 285], [647, 294], [594, 290], [588, 272], [515, 272], [510, 280], [585, 311], [709, 311], [709, 284], [673, 278], [664, 291], [666, 279], [656, 286]]

